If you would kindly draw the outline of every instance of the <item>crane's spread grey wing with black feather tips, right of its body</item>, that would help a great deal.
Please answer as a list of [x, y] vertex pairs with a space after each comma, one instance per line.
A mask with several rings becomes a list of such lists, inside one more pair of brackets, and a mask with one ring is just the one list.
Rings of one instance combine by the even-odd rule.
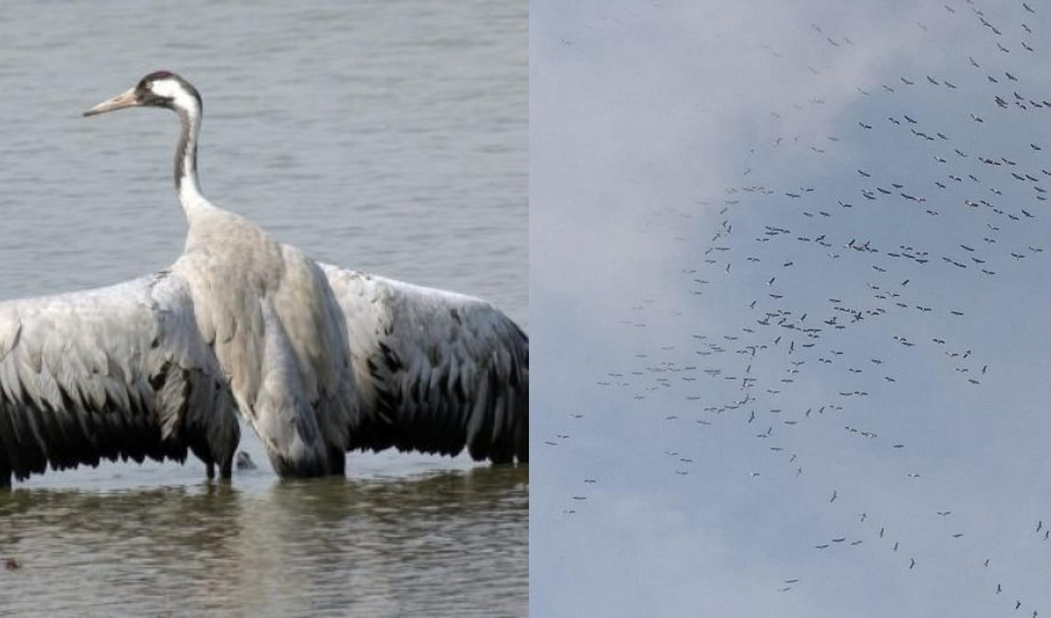
[[321, 265], [347, 320], [350, 449], [529, 460], [529, 338], [485, 301]]

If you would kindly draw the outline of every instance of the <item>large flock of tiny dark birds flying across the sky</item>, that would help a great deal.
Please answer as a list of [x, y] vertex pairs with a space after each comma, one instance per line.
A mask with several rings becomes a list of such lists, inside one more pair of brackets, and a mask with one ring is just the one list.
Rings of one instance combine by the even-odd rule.
[[[895, 369], [903, 354], [912, 358], [925, 354], [931, 360], [928, 367], [940, 358], [942, 371], [955, 378], [948, 388], [965, 394], [973, 392], [966, 389], [982, 388], [996, 370], [994, 354], [962, 334], [967, 332], [962, 327], [969, 315], [981, 311], [973, 311], [966, 294], [956, 298], [925, 286], [955, 282], [990, 289], [992, 282], [1018, 265], [1043, 258], [1038, 241], [1023, 239], [1038, 238], [1035, 225], [1047, 220], [1051, 161], [1046, 150], [1051, 150], [1051, 143], [1039, 143], [1036, 131], [1029, 131], [1022, 133], [1028, 136], [1025, 143], [1008, 151], [988, 137], [1001, 122], [1046, 124], [1051, 118], [1051, 95], [1031, 84], [1024, 67], [1012, 66], [1019, 54], [1035, 58], [1048, 50], [1037, 43], [1039, 17], [1028, 3], [1015, 15], [1030, 19], [1016, 23], [997, 22], [972, 0], [944, 4], [940, 13], [946, 20], [940, 26], [964, 29], [976, 46], [951, 74], [921, 73], [884, 83], [851, 84], [857, 99], [850, 109], [860, 117], [850, 123], [849, 132], [775, 137], [768, 149], [749, 150], [756, 163], [741, 172], [741, 186], [725, 189], [717, 199], [696, 200], [696, 207], [663, 207], [659, 215], [671, 220], [679, 234], [676, 241], [697, 244], [695, 236], [679, 231], [688, 227], [708, 234], [699, 247], [699, 260], [691, 259], [680, 272], [687, 294], [698, 296], [699, 304], [676, 307], [671, 313], [686, 315], [683, 322], [688, 322], [692, 313], [703, 311], [705, 316], [717, 316], [715, 322], [723, 330], [683, 329], [673, 345], [653, 342], [634, 351], [632, 370], [605, 372], [597, 377], [598, 387], [634, 398], [647, 412], [660, 407], [660, 419], [666, 424], [743, 423], [754, 430], [756, 444], [774, 453], [785, 472], [796, 477], [807, 471], [806, 455], [781, 438], [808, 424], [839, 423], [845, 437], [864, 439], [866, 448], [885, 448], [888, 454], [911, 448], [905, 438], [883, 435], [869, 426], [879, 425], [877, 419], [858, 412], [872, 406], [863, 401], [902, 405], [893, 398], [895, 389], [900, 380], [912, 377]], [[915, 26], [923, 33], [931, 29], [923, 22]], [[857, 44], [818, 24], [810, 34], [831, 48], [833, 59], [837, 52]], [[764, 48], [785, 61], [783, 54]], [[840, 79], [833, 67], [810, 65], [807, 70], [818, 82], [826, 74]], [[925, 88], [937, 91], [932, 95]], [[916, 98], [932, 97], [950, 102], [940, 116], [924, 114], [923, 106], [915, 105]], [[805, 116], [826, 103], [825, 97], [812, 97], [792, 103], [791, 109], [772, 110], [770, 117], [779, 125], [792, 114]], [[1049, 116], [1024, 116], [1034, 114]], [[951, 115], [960, 118], [946, 121]], [[947, 128], [961, 123], [978, 125], [977, 136], [957, 137]], [[836, 149], [844, 145], [867, 150], [870, 164], [846, 169], [834, 159]], [[756, 181], [764, 173], [763, 164], [778, 156], [824, 158], [827, 164], [822, 165], [834, 172], [826, 171], [811, 186], [777, 188]], [[905, 162], [901, 172], [888, 171], [900, 161]], [[696, 214], [697, 207], [702, 214]], [[901, 225], [888, 233], [885, 222], [891, 218]], [[925, 236], [930, 230], [934, 235]], [[827, 273], [836, 274], [825, 277]], [[818, 291], [844, 277], [854, 286]], [[645, 328], [650, 320], [668, 314], [668, 307], [654, 298], [630, 309], [631, 314], [620, 321], [626, 329]], [[936, 373], [934, 368], [925, 372]], [[836, 385], [834, 394], [798, 406], [800, 386], [807, 380]], [[680, 396], [684, 391], [687, 394]], [[665, 411], [669, 397], [678, 403]], [[572, 412], [569, 427], [581, 431], [589, 416], [586, 411]], [[686, 431], [677, 427], [678, 432]], [[566, 429], [543, 442], [559, 447], [574, 433]], [[694, 455], [681, 448], [663, 454], [668, 473], [691, 478]], [[750, 475], [761, 477], [764, 472], [755, 470]], [[921, 482], [923, 471], [903, 476], [902, 482]], [[604, 482], [615, 479], [581, 479], [581, 490], [568, 496], [563, 515], [580, 516], [593, 498], [589, 488]], [[840, 508], [842, 489], [829, 488], [829, 508]], [[946, 539], [965, 537], [952, 528], [952, 509], [929, 516], [946, 524]], [[1033, 521], [1033, 527], [1037, 540], [1051, 541], [1043, 519]], [[881, 543], [901, 557], [903, 569], [923, 568], [923, 556], [897, 540], [892, 526], [874, 512], [858, 513], [856, 528], [853, 534], [815, 539], [809, 547], [831, 552]], [[1036, 603], [1027, 603], [1023, 593], [1001, 580], [997, 558], [990, 555], [978, 562], [973, 566], [987, 574], [990, 595], [1006, 599], [1009, 610], [1033, 618], [1039, 615]], [[804, 584], [799, 577], [787, 577], [777, 590], [788, 593]]]

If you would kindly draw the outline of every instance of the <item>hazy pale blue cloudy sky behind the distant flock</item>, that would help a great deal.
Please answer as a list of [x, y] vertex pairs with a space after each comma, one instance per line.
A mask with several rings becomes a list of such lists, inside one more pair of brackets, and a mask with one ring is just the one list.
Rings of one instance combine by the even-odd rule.
[[1051, 9], [568, 4], [532, 613], [1051, 616]]

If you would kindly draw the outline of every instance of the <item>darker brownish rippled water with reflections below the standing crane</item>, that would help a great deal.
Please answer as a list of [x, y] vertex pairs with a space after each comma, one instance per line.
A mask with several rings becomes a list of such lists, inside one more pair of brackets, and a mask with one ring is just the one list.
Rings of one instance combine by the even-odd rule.
[[[529, 469], [0, 494], [0, 615], [522, 615]], [[455, 568], [450, 568], [450, 565]]]

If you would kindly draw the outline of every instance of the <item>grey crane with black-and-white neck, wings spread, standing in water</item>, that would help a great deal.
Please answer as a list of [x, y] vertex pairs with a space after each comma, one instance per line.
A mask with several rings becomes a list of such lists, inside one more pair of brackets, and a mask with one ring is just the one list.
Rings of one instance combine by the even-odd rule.
[[489, 303], [320, 264], [212, 205], [202, 102], [157, 71], [86, 111], [174, 111], [188, 223], [165, 270], [0, 303], [0, 487], [102, 458], [231, 474], [234, 412], [282, 476], [342, 474], [350, 450], [529, 458], [529, 339]]

